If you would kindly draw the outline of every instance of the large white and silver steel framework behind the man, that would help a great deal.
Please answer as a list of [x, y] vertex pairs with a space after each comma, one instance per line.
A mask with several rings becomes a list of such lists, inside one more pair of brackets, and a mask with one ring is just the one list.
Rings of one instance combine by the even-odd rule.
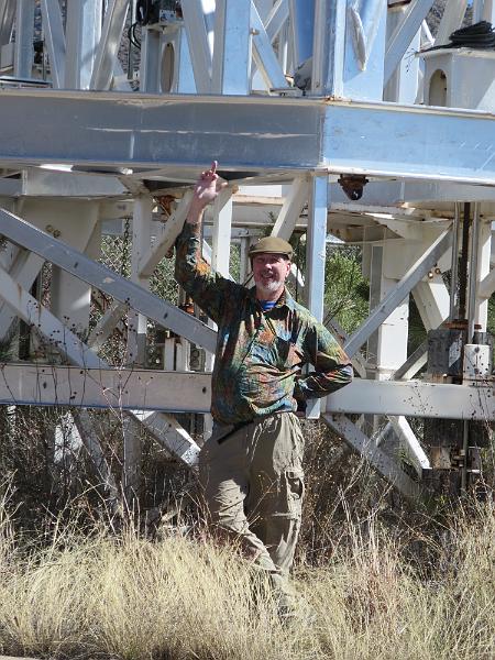
[[[198, 447], [173, 415], [208, 411], [209, 374], [184, 367], [188, 342], [211, 353], [216, 331], [150, 293], [148, 279], [180, 231], [188, 186], [216, 158], [230, 183], [207, 218], [206, 251], [219, 272], [229, 274], [233, 238], [248, 274], [253, 235], [270, 228], [288, 239], [302, 228], [306, 301], [323, 319], [327, 234], [363, 243], [370, 316], [351, 337], [337, 330], [361, 377], [307, 414], [321, 415], [415, 495], [418, 483], [378, 447], [380, 436], [366, 437], [345, 415], [388, 416], [419, 476], [431, 457], [406, 416], [495, 417], [487, 364], [469, 370], [465, 360], [455, 384], [410, 381], [426, 363], [426, 346], [407, 355], [408, 299], [427, 330], [459, 317], [455, 287], [448, 290], [442, 273], [453, 264], [457, 282], [463, 218], [468, 344], [474, 330], [486, 332], [495, 290], [495, 51], [446, 47], [419, 56], [449, 42], [468, 0], [448, 2], [436, 40], [425, 21], [432, 4], [0, 0], [0, 332], [19, 317], [73, 365], [4, 365], [1, 403], [118, 406], [195, 463]], [[495, 23], [493, 0], [475, 1], [481, 19]], [[128, 32], [136, 42], [138, 20], [140, 64], [131, 46], [125, 74], [118, 52]], [[175, 202], [157, 232], [152, 217], [161, 195]], [[95, 260], [102, 222], [131, 215], [125, 278]], [[45, 262], [53, 265], [50, 309], [31, 290]], [[113, 305], [82, 341], [91, 290]], [[124, 314], [128, 364], [117, 369], [97, 351]], [[182, 358], [169, 362], [174, 373], [141, 369], [146, 319], [184, 338]], [[78, 428], [85, 441], [84, 424]], [[128, 436], [132, 481], [139, 447]], [[98, 460], [98, 440], [86, 442]]]

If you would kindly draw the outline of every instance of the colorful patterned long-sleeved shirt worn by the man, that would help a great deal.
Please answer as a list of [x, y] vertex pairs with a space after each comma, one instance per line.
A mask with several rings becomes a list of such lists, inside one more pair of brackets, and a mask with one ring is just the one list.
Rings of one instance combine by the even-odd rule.
[[[349, 358], [333, 336], [285, 290], [264, 312], [255, 288], [213, 273], [198, 229], [186, 222], [176, 242], [175, 277], [218, 324], [211, 414], [220, 424], [297, 409], [352, 381]], [[301, 374], [306, 364], [314, 372]]]

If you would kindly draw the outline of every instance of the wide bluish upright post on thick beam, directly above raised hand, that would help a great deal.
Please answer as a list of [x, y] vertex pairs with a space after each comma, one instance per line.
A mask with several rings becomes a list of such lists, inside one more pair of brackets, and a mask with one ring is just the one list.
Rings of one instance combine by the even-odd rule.
[[251, 61], [251, 0], [217, 0], [212, 92], [249, 95]]

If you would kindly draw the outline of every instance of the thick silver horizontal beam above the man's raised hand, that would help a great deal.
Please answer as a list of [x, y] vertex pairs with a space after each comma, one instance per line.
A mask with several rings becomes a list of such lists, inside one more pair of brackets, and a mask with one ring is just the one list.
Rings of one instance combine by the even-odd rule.
[[[251, 175], [328, 169], [493, 185], [495, 116], [324, 98], [2, 90], [0, 164]], [[23, 118], [22, 131], [19, 117]], [[459, 135], [470, 135], [468, 142]]]

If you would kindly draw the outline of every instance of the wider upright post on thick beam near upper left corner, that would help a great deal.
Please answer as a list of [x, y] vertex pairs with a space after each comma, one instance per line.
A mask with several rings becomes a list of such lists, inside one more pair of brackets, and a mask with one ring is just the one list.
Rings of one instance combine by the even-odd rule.
[[65, 87], [89, 89], [101, 36], [102, 0], [67, 2]]

